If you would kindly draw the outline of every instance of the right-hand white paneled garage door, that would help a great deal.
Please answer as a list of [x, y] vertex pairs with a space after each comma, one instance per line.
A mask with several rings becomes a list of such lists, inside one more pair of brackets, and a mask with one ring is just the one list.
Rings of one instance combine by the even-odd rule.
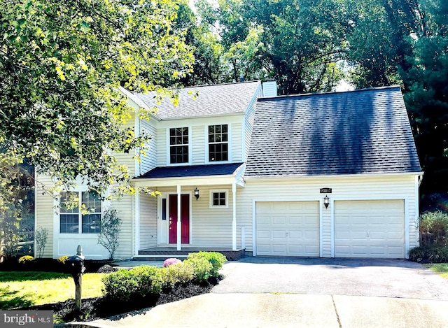
[[404, 201], [335, 201], [335, 257], [405, 257]]

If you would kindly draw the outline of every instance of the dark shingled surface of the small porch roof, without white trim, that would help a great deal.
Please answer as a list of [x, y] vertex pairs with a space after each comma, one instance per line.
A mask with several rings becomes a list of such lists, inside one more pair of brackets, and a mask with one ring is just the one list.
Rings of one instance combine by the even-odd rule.
[[204, 164], [191, 166], [160, 166], [139, 178], [186, 178], [194, 176], [231, 176], [243, 163]]

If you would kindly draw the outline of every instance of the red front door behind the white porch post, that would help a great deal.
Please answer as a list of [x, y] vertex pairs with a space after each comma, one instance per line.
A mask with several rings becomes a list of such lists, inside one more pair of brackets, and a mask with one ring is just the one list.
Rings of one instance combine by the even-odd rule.
[[[181, 194], [181, 242], [190, 243], [190, 196]], [[169, 243], [177, 243], [177, 195], [169, 195]]]

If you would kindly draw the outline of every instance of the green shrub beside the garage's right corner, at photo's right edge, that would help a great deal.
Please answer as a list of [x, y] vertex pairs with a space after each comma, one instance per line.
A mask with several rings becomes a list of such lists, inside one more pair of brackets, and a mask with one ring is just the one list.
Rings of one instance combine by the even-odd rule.
[[419, 220], [420, 245], [447, 246], [448, 214], [442, 211], [423, 213]]

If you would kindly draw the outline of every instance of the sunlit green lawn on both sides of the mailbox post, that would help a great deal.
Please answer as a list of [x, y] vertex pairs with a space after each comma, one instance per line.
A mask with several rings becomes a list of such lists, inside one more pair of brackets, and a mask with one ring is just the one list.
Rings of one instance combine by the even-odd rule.
[[[102, 295], [107, 273], [83, 274], [83, 298]], [[74, 299], [71, 275], [55, 272], [0, 272], [0, 310]]]

